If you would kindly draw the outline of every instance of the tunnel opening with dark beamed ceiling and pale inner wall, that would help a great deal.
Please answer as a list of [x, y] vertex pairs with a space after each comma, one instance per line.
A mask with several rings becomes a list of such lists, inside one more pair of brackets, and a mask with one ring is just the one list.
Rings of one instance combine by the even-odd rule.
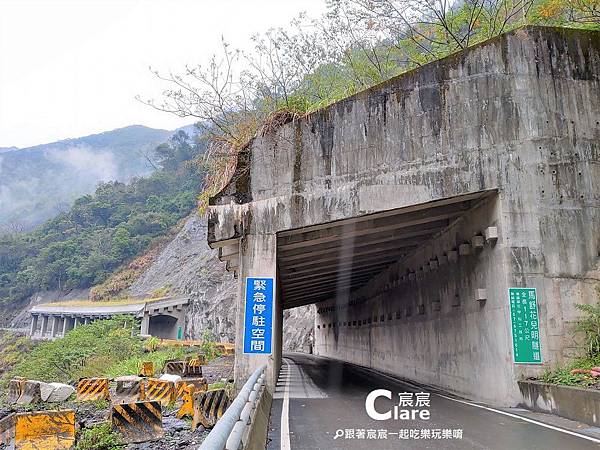
[[497, 400], [506, 386], [472, 379], [475, 369], [492, 378], [511, 370], [497, 197], [481, 191], [280, 233], [284, 336], [312, 314], [313, 335], [294, 350]]

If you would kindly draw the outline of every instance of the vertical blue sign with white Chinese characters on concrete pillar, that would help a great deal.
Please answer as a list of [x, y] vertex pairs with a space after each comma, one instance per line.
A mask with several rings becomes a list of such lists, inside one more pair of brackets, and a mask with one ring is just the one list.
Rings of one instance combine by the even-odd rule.
[[274, 285], [273, 278], [246, 278], [244, 354], [271, 354]]

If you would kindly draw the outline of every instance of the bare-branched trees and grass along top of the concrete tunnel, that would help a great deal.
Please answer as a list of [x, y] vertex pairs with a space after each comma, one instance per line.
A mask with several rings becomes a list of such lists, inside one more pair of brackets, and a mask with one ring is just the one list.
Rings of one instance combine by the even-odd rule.
[[287, 29], [254, 36], [252, 52], [223, 43], [206, 66], [155, 72], [169, 88], [146, 103], [211, 125], [201, 211], [257, 134], [524, 25], [600, 29], [600, 0], [327, 0], [327, 7], [320, 18], [301, 15]]

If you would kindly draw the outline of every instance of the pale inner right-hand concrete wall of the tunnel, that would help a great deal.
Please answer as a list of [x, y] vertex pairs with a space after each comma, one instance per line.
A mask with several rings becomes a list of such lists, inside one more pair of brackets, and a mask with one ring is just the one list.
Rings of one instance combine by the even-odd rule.
[[[512, 402], [519, 401], [502, 270], [505, 237], [471, 247], [469, 255], [442, 258], [498, 226], [500, 203], [486, 201], [347, 298], [317, 304], [316, 353], [480, 400], [506, 400], [511, 392]], [[441, 265], [432, 269], [431, 260]], [[487, 300], [476, 300], [478, 289], [486, 289]]]

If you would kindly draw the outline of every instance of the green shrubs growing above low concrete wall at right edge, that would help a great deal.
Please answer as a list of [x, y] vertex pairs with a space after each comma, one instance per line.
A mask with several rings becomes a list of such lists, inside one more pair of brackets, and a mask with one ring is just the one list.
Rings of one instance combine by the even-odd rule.
[[584, 354], [568, 364], [547, 370], [540, 377], [541, 381], [568, 386], [591, 386], [600, 383], [600, 377], [593, 377], [590, 373], [577, 373], [577, 369], [590, 371], [594, 367], [600, 367], [600, 303], [576, 307], [585, 314], [575, 327], [575, 332], [584, 336]]

